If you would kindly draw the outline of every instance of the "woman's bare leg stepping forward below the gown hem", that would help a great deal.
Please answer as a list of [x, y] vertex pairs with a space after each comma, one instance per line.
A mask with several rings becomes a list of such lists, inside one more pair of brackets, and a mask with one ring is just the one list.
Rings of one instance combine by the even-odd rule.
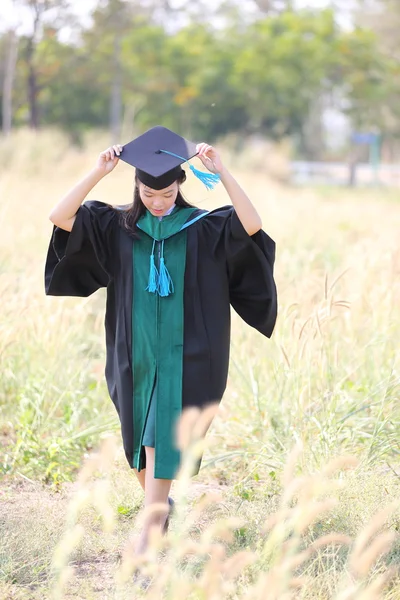
[[[146, 479], [145, 479], [145, 507], [150, 506], [156, 502], [162, 502], [168, 507], [168, 494], [171, 489], [172, 479], [156, 479], [154, 477], [154, 448], [145, 446], [146, 452]], [[146, 519], [142, 533], [139, 538], [138, 546], [136, 548], [137, 553], [144, 552], [147, 548], [148, 538], [150, 529], [152, 527], [159, 527], [162, 529], [164, 523], [168, 517], [168, 513], [151, 515]]]

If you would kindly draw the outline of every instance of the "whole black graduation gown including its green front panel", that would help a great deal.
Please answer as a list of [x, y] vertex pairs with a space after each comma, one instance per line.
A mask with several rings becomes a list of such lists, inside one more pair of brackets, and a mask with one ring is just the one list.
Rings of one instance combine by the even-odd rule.
[[[176, 477], [180, 453], [174, 427], [182, 410], [204, 408], [219, 402], [224, 394], [230, 306], [267, 337], [272, 335], [276, 321], [274, 241], [262, 230], [249, 236], [232, 206], [205, 216], [204, 212], [190, 211], [188, 219], [203, 218], [174, 237], [181, 248], [184, 239], [185, 253], [182, 281], [174, 281], [174, 305], [171, 296], [155, 298], [145, 291], [147, 281], [144, 284], [142, 274], [144, 269], [148, 273], [149, 253], [143, 249], [144, 240], [147, 245], [150, 240], [145, 232], [141, 232], [141, 239], [132, 239], [121, 225], [120, 207], [84, 202], [71, 232], [53, 227], [45, 262], [47, 295], [87, 297], [100, 287], [107, 288], [105, 377], [120, 419], [126, 459], [138, 470], [146, 466], [141, 442], [157, 379], [154, 476], [158, 478]], [[175, 275], [179, 279], [178, 271]], [[154, 322], [167, 324], [173, 315], [176, 319], [176, 310], [171, 311], [171, 307], [176, 307], [179, 296], [181, 322], [174, 323], [172, 341], [168, 341], [165, 330], [159, 344]], [[153, 337], [148, 333], [151, 331]], [[153, 340], [151, 345], [148, 340]], [[175, 362], [171, 362], [172, 355]], [[180, 385], [171, 387], [171, 381], [177, 380]], [[193, 475], [200, 464], [201, 458]]]

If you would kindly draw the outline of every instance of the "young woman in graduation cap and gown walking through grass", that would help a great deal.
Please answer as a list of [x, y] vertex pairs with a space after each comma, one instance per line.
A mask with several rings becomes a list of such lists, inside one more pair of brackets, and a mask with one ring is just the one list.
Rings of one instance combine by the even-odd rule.
[[[149, 137], [153, 146], [162, 140], [162, 148], [151, 149], [147, 172], [142, 163], [136, 169], [132, 204], [82, 204], [124, 155], [124, 147], [115, 145], [54, 207], [45, 289], [49, 295], [89, 296], [107, 287], [105, 376], [125, 455], [145, 492], [145, 505], [169, 502], [172, 507], [168, 494], [181, 458], [175, 427], [185, 408], [205, 408], [223, 396], [230, 306], [270, 337], [277, 294], [275, 243], [217, 150], [201, 143], [194, 152], [219, 175], [232, 206], [207, 212], [184, 200], [186, 156], [163, 137], [165, 131], [153, 128], [138, 138], [139, 159]], [[131, 164], [138, 167], [135, 160]], [[201, 458], [193, 475], [200, 463]], [[149, 520], [138, 552], [146, 548], [154, 524], [166, 531], [168, 517]]]

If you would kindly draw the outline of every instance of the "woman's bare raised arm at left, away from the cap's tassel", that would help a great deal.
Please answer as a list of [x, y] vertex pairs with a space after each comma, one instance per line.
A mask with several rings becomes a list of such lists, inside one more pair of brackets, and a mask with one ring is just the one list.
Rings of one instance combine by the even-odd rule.
[[49, 219], [54, 225], [72, 230], [78, 208], [95, 185], [117, 166], [121, 149], [122, 146], [115, 145], [101, 152], [96, 166], [51, 211]]

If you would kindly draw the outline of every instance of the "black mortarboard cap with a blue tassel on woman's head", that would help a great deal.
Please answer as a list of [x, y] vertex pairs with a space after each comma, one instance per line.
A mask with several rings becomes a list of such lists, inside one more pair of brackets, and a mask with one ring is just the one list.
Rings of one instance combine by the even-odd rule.
[[[157, 125], [125, 144], [120, 158], [136, 167], [139, 181], [154, 190], [162, 190], [179, 178], [182, 173], [181, 165], [196, 154], [196, 144]], [[192, 165], [189, 166], [209, 189], [219, 181], [217, 175], [203, 173]]]

